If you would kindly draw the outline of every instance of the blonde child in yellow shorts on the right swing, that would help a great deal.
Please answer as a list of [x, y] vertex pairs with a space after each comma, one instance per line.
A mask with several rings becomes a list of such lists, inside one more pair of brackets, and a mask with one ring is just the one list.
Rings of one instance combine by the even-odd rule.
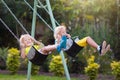
[[[66, 33], [65, 26], [58, 26], [55, 28], [54, 38], [57, 44], [59, 44], [62, 35], [65, 35], [67, 37], [66, 48], [63, 50], [72, 57], [75, 57], [74, 53], [76, 52], [76, 50], [74, 50], [73, 48], [79, 48], [79, 50], [77, 51], [79, 52], [83, 47], [87, 46], [87, 44], [97, 49], [100, 55], [105, 55], [105, 53], [110, 49], [110, 45], [107, 45], [106, 41], [103, 41], [102, 45], [98, 45], [90, 36], [87, 36], [81, 40], [74, 42], [71, 39], [71, 36]], [[75, 47], [73, 43], [77, 44], [77, 47]], [[60, 51], [59, 48], [57, 48], [57, 50]]]

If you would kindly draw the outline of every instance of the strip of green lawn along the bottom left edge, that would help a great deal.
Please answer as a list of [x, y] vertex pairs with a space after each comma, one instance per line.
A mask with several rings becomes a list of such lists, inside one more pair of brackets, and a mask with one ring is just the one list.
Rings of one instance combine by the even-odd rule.
[[[27, 75], [0, 74], [0, 80], [27, 80], [26, 76]], [[66, 77], [35, 75], [35, 76], [31, 76], [31, 80], [66, 80]], [[78, 80], [78, 79], [72, 78], [71, 80]]]

